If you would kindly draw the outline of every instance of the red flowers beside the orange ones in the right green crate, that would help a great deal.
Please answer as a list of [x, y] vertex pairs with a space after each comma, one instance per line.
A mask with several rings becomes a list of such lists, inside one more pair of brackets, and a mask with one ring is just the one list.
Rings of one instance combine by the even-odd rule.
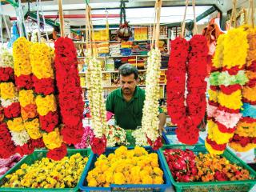
[[170, 149], [165, 150], [164, 155], [175, 181], [194, 181], [194, 177], [198, 174], [198, 170], [194, 161], [196, 156], [193, 151]]

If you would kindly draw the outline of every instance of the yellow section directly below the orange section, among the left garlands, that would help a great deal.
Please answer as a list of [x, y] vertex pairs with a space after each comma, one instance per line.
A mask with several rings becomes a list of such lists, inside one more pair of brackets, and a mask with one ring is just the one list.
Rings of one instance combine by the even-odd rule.
[[27, 133], [30, 135], [30, 138], [38, 139], [42, 137], [40, 133], [40, 124], [38, 118], [34, 118], [32, 121], [24, 122]]

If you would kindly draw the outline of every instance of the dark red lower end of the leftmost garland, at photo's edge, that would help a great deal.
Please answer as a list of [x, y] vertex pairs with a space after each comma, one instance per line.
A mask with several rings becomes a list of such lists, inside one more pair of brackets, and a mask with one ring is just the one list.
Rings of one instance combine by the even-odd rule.
[[11, 140], [7, 125], [0, 122], [0, 158], [9, 158], [10, 155], [15, 153], [14, 142]]

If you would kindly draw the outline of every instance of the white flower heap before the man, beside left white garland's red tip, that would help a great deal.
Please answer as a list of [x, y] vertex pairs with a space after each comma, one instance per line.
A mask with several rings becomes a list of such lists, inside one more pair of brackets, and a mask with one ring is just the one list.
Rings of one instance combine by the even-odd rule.
[[106, 129], [106, 146], [128, 146], [126, 130], [120, 126], [108, 126]]

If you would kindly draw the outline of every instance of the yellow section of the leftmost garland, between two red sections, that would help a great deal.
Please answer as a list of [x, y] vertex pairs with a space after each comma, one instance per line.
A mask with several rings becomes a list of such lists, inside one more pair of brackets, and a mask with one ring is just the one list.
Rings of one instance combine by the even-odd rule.
[[0, 95], [3, 99], [11, 99], [17, 96], [17, 91], [13, 82], [0, 83]]

